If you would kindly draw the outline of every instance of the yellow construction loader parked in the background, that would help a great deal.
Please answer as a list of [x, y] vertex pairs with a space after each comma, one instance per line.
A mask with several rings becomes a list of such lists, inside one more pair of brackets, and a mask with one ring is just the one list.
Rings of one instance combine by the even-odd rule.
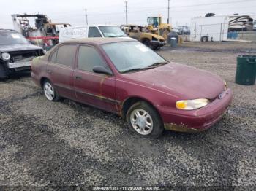
[[162, 16], [148, 17], [148, 30], [153, 34], [160, 35], [167, 40], [167, 35], [171, 31], [170, 24], [162, 23]]

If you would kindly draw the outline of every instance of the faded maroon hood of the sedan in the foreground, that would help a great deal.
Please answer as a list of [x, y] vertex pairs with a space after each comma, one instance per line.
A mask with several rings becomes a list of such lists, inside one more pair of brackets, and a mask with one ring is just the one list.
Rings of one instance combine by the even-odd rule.
[[177, 63], [124, 74], [124, 77], [182, 99], [214, 99], [224, 90], [224, 81], [217, 75]]

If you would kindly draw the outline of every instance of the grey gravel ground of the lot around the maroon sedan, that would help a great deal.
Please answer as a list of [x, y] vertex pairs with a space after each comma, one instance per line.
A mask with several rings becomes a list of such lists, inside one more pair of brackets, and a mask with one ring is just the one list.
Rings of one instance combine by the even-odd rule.
[[[28, 74], [0, 81], [0, 185], [7, 187], [256, 187], [256, 85], [234, 83], [236, 55], [255, 44], [185, 43], [169, 61], [218, 74], [234, 93], [230, 112], [202, 133], [143, 139], [115, 114], [46, 101]], [[1, 190], [1, 188], [0, 188]]]

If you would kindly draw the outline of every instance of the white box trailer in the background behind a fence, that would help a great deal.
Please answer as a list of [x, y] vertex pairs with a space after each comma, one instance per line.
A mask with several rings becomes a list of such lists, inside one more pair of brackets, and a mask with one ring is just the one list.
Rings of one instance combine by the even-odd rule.
[[191, 42], [222, 42], [227, 40], [229, 16], [194, 17], [191, 20]]

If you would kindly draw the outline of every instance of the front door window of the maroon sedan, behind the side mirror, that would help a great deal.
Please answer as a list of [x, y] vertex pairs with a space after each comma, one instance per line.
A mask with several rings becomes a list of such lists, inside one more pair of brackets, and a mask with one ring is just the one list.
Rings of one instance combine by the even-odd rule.
[[94, 47], [80, 46], [78, 52], [78, 69], [93, 72], [94, 66], [107, 67], [107, 64]]

